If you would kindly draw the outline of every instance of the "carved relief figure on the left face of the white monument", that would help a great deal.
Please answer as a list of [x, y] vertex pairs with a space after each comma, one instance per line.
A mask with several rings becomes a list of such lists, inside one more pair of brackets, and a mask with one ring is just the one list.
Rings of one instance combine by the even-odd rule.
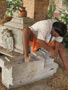
[[13, 51], [14, 43], [11, 31], [6, 29], [0, 30], [0, 46]]

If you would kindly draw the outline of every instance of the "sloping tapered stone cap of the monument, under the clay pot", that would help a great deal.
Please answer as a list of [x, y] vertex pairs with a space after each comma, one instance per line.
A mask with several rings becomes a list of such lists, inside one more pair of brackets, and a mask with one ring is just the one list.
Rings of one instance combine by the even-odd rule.
[[5, 23], [5, 26], [13, 27], [17, 29], [23, 29], [26, 26], [30, 26], [34, 23], [34, 21], [28, 17], [13, 17], [10, 22]]

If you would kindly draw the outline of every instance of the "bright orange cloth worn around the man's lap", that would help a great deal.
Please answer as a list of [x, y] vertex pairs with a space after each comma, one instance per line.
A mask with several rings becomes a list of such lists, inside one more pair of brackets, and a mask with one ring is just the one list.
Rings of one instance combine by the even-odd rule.
[[[33, 40], [29, 42], [29, 46], [32, 46], [32, 52], [35, 52], [40, 48], [40, 46], [36, 43], [36, 40], [37, 40], [37, 38], [33, 34]], [[48, 43], [48, 46], [54, 47], [55, 41]]]

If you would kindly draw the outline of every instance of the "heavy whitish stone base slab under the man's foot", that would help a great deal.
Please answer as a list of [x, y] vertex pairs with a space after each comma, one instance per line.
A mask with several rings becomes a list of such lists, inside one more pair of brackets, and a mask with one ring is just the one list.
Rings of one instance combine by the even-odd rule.
[[2, 83], [7, 88], [15, 88], [52, 76], [58, 65], [53, 61], [45, 64], [44, 60], [32, 60], [25, 63], [23, 56], [16, 58], [1, 56], [0, 67], [2, 68]]

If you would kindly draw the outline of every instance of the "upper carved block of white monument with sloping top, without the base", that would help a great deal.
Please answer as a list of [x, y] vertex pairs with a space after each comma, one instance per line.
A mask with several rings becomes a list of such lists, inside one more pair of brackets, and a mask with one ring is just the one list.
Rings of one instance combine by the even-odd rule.
[[0, 46], [23, 54], [23, 29], [33, 23], [28, 17], [18, 17], [16, 12], [10, 22], [0, 25]]

